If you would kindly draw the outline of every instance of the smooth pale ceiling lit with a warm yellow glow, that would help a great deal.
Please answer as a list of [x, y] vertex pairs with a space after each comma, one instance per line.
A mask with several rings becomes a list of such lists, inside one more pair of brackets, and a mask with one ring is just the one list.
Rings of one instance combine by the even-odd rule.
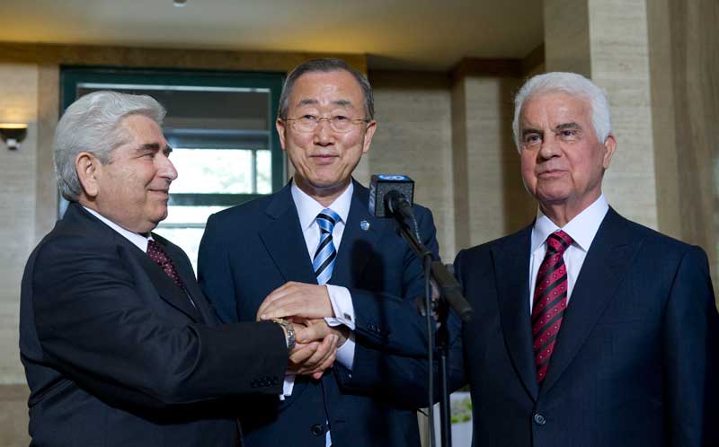
[[448, 70], [525, 57], [544, 32], [539, 0], [186, 2], [0, 0], [0, 41], [358, 53], [370, 69]]

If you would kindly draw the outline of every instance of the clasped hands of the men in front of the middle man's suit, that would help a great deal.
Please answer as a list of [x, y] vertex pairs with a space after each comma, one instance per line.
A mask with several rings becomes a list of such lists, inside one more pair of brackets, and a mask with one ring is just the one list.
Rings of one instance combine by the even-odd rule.
[[334, 316], [326, 286], [296, 282], [272, 291], [257, 311], [258, 321], [288, 320], [296, 341], [289, 352], [288, 373], [311, 375], [315, 380], [332, 367], [337, 349], [350, 337], [346, 326], [332, 327], [324, 320]]

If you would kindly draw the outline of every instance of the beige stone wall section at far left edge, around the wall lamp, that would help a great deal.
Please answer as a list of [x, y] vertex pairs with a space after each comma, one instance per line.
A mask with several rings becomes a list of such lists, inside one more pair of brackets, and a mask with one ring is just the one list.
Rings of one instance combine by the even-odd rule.
[[16, 151], [0, 144], [0, 445], [27, 445], [27, 388], [18, 352], [20, 282], [24, 260], [37, 242], [36, 202], [40, 70], [0, 65], [0, 122], [28, 124]]

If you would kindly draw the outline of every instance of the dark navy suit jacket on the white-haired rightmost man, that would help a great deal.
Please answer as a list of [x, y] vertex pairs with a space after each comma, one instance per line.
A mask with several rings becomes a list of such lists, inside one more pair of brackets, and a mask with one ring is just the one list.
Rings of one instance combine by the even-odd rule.
[[457, 276], [475, 309], [462, 332], [473, 444], [719, 445], [719, 324], [704, 251], [609, 209], [540, 388], [530, 234], [531, 226], [457, 255]]

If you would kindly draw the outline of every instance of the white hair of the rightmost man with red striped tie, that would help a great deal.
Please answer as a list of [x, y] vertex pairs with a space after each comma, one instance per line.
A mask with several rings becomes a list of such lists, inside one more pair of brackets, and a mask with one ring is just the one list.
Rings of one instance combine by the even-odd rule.
[[576, 73], [553, 72], [537, 74], [522, 85], [514, 98], [514, 120], [511, 123], [514, 132], [514, 144], [521, 151], [519, 141], [519, 113], [522, 105], [530, 97], [550, 92], [564, 92], [581, 96], [591, 105], [591, 124], [597, 139], [603, 143], [612, 131], [612, 120], [609, 114], [609, 103], [604, 91], [589, 79]]

